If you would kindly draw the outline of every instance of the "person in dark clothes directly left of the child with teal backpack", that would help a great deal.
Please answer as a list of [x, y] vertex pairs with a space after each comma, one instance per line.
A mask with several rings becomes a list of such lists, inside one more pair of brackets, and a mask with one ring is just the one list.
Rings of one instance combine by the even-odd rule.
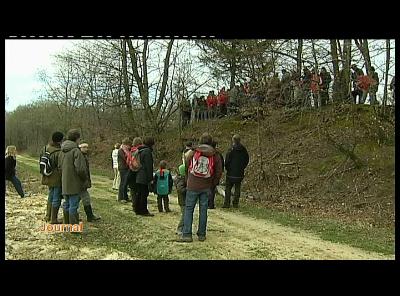
[[154, 216], [147, 209], [147, 197], [149, 186], [153, 182], [153, 137], [145, 137], [142, 146], [139, 146], [139, 158], [141, 167], [136, 175], [137, 201], [135, 205], [136, 215]]

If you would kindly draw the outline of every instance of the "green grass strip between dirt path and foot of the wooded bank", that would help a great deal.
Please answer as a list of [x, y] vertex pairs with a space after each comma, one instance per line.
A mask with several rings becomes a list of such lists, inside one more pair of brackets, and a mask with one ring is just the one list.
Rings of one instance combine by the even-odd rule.
[[[217, 206], [222, 206], [222, 201], [219, 200], [217, 199]], [[344, 243], [386, 255], [393, 255], [395, 252], [394, 229], [366, 228], [332, 219], [281, 212], [268, 209], [260, 203], [247, 201], [241, 203], [239, 211], [251, 217], [272, 220], [284, 226], [310, 231], [327, 241]]]

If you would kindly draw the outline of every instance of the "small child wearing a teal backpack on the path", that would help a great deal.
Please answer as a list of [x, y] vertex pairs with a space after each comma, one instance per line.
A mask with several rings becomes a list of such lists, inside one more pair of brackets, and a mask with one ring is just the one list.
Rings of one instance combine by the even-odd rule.
[[167, 162], [165, 160], [160, 161], [160, 169], [154, 174], [154, 193], [157, 194], [157, 207], [160, 213], [164, 211], [171, 212], [169, 208], [169, 197], [168, 194], [172, 192], [172, 181], [171, 172], [167, 169]]

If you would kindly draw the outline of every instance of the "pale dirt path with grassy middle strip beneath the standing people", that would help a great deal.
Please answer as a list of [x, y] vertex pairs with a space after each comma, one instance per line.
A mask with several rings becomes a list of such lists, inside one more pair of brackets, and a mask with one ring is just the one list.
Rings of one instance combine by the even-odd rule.
[[[35, 159], [18, 159], [37, 167]], [[138, 217], [130, 204], [115, 201], [110, 179], [93, 175], [92, 180], [92, 203], [103, 219], [98, 223], [84, 220], [82, 235], [40, 231], [45, 194], [20, 199], [14, 190], [8, 192], [6, 259], [394, 259], [224, 209], [208, 212], [205, 242], [177, 243], [175, 228], [180, 214], [175, 196], [171, 197], [172, 213], [158, 213], [155, 196], [150, 195], [149, 208], [155, 217]], [[82, 206], [80, 211], [85, 219]], [[197, 221], [196, 208], [194, 233]]]

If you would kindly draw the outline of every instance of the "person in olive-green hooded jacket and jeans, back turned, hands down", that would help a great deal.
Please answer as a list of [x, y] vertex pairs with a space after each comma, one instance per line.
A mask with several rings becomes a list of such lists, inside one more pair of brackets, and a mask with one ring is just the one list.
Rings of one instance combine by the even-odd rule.
[[58, 168], [61, 170], [61, 187], [64, 196], [64, 224], [79, 223], [79, 194], [84, 190], [87, 181], [85, 157], [78, 148], [81, 134], [78, 129], [67, 133], [67, 140], [61, 144], [58, 157]]

